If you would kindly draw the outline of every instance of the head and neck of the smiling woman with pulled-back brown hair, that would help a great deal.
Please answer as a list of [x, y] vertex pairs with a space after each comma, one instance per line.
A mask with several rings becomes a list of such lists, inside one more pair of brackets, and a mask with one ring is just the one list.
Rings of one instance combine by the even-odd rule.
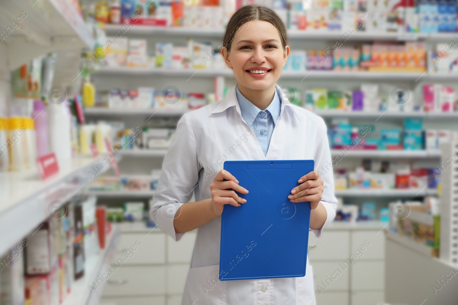
[[234, 71], [240, 93], [266, 109], [289, 55], [283, 21], [266, 7], [244, 6], [231, 18], [223, 47], [221, 53]]

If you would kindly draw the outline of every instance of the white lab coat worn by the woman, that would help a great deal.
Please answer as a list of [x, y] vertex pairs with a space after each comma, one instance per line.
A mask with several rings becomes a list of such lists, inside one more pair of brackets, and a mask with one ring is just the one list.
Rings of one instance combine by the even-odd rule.
[[[276, 89], [282, 93], [278, 86]], [[315, 170], [324, 181], [322, 203], [327, 210], [324, 228], [334, 219], [337, 207], [326, 131], [322, 118], [290, 104], [282, 96], [280, 117], [264, 156], [256, 135], [240, 114], [234, 86], [222, 101], [180, 118], [164, 158], [151, 216], [160, 229], [178, 241], [185, 234], [174, 230], [178, 207], [191, 199], [193, 191], [196, 201], [211, 198], [210, 184], [223, 169], [225, 160], [313, 159]], [[319, 237], [323, 228], [312, 231]], [[315, 304], [308, 257], [305, 277], [219, 281], [221, 218], [195, 231], [196, 243], [182, 305]]]

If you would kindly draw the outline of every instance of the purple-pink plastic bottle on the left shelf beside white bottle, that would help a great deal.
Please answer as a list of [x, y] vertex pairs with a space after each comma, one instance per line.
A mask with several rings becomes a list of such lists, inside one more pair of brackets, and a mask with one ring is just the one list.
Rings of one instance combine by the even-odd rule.
[[49, 154], [48, 139], [48, 113], [44, 108], [43, 101], [33, 102], [32, 119], [35, 125], [35, 135], [37, 138], [37, 157]]

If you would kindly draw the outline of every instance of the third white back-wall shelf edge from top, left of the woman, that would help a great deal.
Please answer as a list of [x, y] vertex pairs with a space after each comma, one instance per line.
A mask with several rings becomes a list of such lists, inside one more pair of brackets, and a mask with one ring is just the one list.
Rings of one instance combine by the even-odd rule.
[[177, 110], [175, 108], [161, 108], [161, 109], [116, 109], [116, 108], [103, 108], [93, 107], [84, 108], [84, 114], [93, 116], [154, 116], [154, 117], [180, 117], [186, 110]]

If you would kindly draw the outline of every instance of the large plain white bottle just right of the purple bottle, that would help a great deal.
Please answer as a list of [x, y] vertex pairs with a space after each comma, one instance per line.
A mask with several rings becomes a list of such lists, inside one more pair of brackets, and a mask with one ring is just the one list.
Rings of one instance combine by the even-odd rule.
[[67, 102], [59, 105], [49, 104], [48, 132], [49, 150], [54, 152], [62, 166], [71, 160], [71, 118]]

